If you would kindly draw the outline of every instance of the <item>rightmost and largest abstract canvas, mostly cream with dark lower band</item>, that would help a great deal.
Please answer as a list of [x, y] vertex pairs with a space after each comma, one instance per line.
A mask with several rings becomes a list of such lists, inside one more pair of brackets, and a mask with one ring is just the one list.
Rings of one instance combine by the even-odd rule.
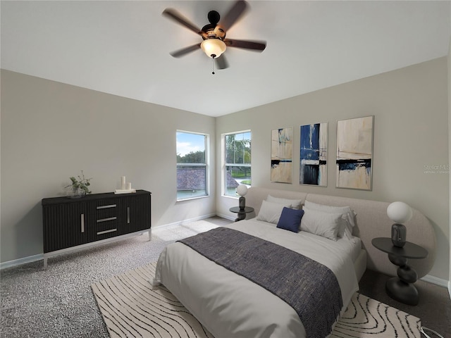
[[373, 161], [373, 116], [337, 122], [338, 188], [371, 190]]

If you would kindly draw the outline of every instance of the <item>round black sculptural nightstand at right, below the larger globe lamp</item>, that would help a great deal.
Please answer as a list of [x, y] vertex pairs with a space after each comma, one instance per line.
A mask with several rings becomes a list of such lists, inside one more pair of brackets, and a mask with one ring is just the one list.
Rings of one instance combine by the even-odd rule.
[[399, 267], [397, 268], [397, 277], [390, 278], [385, 284], [388, 296], [404, 304], [418, 304], [419, 294], [413, 284], [418, 279], [418, 275], [413, 268], [407, 265], [407, 258], [426, 258], [428, 251], [410, 242], [406, 242], [402, 248], [394, 246], [392, 239], [388, 237], [374, 238], [371, 244], [376, 249], [388, 253], [390, 262]]

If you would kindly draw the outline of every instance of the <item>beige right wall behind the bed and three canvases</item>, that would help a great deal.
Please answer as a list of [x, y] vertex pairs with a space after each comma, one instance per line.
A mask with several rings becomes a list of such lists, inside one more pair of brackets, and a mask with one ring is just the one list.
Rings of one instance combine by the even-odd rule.
[[[302, 76], [292, 74], [290, 76]], [[276, 86], [268, 81], [268, 86]], [[373, 189], [335, 188], [336, 121], [374, 115]], [[376, 201], [404, 201], [426, 215], [437, 235], [437, 260], [430, 275], [448, 280], [450, 258], [449, 175], [426, 174], [425, 165], [448, 164], [447, 58], [340, 84], [266, 104], [216, 121], [216, 152], [221, 134], [252, 130], [252, 185]], [[328, 187], [299, 185], [299, 159], [293, 183], [270, 182], [271, 130], [294, 127], [293, 154], [299, 154], [299, 126], [328, 122]], [[221, 168], [221, 156], [216, 166]], [[221, 180], [217, 179], [221, 192]], [[220, 215], [237, 201], [218, 197]], [[390, 228], [381, 236], [390, 236]], [[408, 236], [408, 230], [407, 230]]]

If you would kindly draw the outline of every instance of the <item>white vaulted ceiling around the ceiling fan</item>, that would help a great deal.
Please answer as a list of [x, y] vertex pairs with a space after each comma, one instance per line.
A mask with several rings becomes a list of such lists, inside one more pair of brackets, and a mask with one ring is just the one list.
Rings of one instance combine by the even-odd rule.
[[450, 1], [249, 1], [211, 75], [202, 41], [161, 15], [202, 27], [233, 1], [1, 1], [1, 68], [204, 115], [220, 116], [445, 56]]

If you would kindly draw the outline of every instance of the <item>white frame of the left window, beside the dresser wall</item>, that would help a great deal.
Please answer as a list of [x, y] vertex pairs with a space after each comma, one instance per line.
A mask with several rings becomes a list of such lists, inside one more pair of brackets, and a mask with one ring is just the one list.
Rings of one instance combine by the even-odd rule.
[[[210, 164], [209, 164], [209, 158], [210, 158], [210, 151], [209, 151], [209, 144], [210, 144], [210, 135], [205, 132], [190, 132], [187, 130], [176, 130], [175, 132], [175, 154], [178, 156], [178, 141], [177, 136], [178, 133], [183, 134], [194, 134], [194, 135], [201, 135], [204, 136], [204, 163], [178, 163], [176, 159], [176, 165], [175, 165], [175, 195], [176, 195], [176, 201], [188, 201], [191, 199], [203, 199], [205, 197], [210, 196]], [[180, 197], [179, 196], [179, 189], [178, 189], [178, 169], [179, 166], [184, 167], [204, 167], [205, 168], [205, 194], [202, 195], [195, 195], [195, 196], [187, 196], [187, 197]]]

